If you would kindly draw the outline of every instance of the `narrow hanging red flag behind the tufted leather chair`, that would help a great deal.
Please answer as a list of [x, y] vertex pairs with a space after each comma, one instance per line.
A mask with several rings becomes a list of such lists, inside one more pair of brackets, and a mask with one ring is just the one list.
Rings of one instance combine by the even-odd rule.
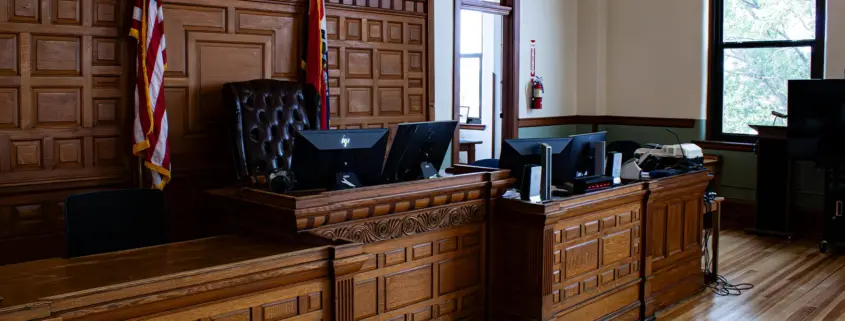
[[306, 37], [305, 83], [313, 85], [320, 94], [320, 129], [329, 129], [329, 48], [326, 39], [326, 4], [324, 0], [310, 0], [308, 5], [308, 34]]

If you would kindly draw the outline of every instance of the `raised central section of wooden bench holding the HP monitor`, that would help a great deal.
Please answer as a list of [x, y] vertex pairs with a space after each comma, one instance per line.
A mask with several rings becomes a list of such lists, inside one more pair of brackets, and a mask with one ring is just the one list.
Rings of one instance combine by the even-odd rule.
[[333, 279], [334, 320], [483, 319], [487, 209], [513, 179], [498, 169], [461, 172], [308, 196], [249, 188], [210, 195], [247, 233], [299, 233], [361, 246], [335, 250], [333, 264], [346, 267]]

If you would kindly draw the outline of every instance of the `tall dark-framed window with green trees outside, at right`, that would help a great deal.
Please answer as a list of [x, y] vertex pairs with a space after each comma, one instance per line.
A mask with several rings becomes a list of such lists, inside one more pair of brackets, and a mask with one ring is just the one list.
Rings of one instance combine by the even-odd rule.
[[824, 74], [825, 0], [711, 0], [710, 139], [750, 141], [787, 113], [787, 80]]

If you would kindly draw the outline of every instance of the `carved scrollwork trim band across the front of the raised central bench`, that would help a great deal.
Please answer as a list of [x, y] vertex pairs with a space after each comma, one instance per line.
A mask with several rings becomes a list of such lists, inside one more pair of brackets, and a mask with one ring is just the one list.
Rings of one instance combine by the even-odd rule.
[[377, 221], [362, 222], [317, 230], [314, 234], [332, 239], [375, 243], [395, 238], [425, 233], [437, 229], [466, 225], [484, 218], [482, 204], [438, 208]]

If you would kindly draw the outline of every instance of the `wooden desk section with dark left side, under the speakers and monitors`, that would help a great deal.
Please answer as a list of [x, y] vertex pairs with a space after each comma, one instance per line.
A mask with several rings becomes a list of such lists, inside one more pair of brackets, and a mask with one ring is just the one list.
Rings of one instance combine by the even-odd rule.
[[545, 204], [498, 200], [492, 317], [636, 320], [645, 194], [638, 183]]

